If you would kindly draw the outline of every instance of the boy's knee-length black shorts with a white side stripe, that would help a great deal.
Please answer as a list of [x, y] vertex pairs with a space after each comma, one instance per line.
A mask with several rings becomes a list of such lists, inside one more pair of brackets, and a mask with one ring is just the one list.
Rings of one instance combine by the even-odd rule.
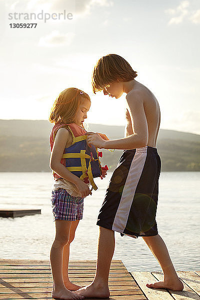
[[155, 215], [160, 167], [157, 148], [124, 150], [107, 187], [97, 225], [133, 237], [158, 234]]

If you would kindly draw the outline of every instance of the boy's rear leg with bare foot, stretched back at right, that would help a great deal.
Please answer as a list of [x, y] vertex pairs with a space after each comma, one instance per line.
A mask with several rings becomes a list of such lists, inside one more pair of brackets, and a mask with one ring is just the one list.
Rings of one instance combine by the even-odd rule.
[[163, 281], [158, 281], [151, 284], [146, 284], [147, 287], [153, 288], [168, 288], [173, 290], [182, 290], [183, 284], [178, 278], [174, 269], [173, 263], [170, 259], [167, 247], [159, 234], [154, 236], [142, 237], [157, 261], [159, 262], [164, 278]]

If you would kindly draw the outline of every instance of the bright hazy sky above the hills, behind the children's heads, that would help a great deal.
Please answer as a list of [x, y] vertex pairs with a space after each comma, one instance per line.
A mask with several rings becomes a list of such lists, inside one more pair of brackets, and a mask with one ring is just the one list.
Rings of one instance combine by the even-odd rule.
[[0, 119], [47, 120], [77, 87], [91, 97], [88, 123], [124, 125], [125, 94], [91, 89], [96, 61], [116, 53], [157, 98], [160, 128], [200, 134], [199, 0], [0, 0], [0, 22]]

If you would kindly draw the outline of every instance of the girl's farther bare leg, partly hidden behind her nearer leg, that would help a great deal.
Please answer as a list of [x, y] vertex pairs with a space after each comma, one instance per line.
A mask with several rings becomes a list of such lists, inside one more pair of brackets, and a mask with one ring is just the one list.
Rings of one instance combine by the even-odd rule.
[[69, 247], [70, 247], [70, 243], [74, 239], [75, 230], [77, 228], [78, 223], [79, 223], [79, 220], [71, 221], [69, 240], [68, 240], [67, 244], [65, 244], [64, 249], [63, 249], [62, 276], [63, 276], [64, 285], [69, 290], [76, 290], [81, 287], [80, 285], [71, 283], [69, 280], [69, 277], [68, 277]]

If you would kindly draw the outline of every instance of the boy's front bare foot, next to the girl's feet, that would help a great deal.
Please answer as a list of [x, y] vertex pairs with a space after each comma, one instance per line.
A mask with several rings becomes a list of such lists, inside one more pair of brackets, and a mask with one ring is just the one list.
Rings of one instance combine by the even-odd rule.
[[107, 286], [91, 283], [75, 291], [76, 294], [85, 298], [109, 298], [109, 289]]

